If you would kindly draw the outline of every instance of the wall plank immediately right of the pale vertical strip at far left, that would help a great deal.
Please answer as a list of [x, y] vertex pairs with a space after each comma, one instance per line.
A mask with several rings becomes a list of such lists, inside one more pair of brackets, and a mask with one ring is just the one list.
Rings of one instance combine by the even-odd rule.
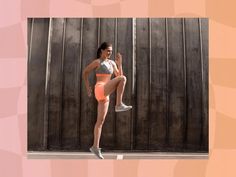
[[52, 19], [48, 102], [48, 148], [61, 149], [64, 19]]

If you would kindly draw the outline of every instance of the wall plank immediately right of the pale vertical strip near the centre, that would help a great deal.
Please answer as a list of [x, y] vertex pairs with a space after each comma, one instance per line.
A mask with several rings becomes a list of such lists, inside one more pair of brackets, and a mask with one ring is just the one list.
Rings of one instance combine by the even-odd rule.
[[137, 112], [135, 149], [148, 148], [149, 131], [149, 24], [148, 19], [137, 19], [136, 83]]

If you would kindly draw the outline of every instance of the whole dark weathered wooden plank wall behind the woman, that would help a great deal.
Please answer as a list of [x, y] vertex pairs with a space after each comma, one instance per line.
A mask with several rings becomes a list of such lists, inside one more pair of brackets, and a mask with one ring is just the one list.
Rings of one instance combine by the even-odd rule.
[[[88, 151], [97, 102], [82, 70], [100, 43], [121, 52], [128, 112], [110, 106], [101, 147], [208, 151], [208, 19], [28, 19], [28, 150]], [[95, 85], [95, 74], [89, 76]]]

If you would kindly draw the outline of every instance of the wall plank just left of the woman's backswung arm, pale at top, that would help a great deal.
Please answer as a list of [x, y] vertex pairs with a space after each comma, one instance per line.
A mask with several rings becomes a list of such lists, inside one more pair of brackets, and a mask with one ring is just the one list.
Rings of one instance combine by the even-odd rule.
[[[75, 149], [79, 120], [81, 19], [66, 19], [63, 61], [62, 147]], [[79, 78], [79, 79], [78, 79]]]

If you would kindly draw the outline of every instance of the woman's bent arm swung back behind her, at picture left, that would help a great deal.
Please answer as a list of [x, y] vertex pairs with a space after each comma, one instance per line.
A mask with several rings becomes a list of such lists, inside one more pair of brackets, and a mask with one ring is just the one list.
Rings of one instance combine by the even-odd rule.
[[90, 63], [88, 66], [83, 71], [83, 80], [85, 82], [85, 87], [88, 93], [88, 96], [90, 97], [92, 95], [92, 88], [90, 87], [89, 80], [88, 80], [88, 75], [89, 73], [95, 69], [99, 65], [98, 60], [94, 60], [92, 63]]

